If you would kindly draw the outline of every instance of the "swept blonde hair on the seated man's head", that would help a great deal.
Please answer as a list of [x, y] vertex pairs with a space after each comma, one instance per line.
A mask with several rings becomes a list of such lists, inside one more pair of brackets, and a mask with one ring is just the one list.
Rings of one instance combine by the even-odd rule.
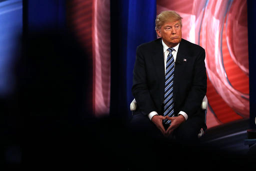
[[181, 22], [182, 17], [175, 12], [174, 10], [164, 10], [161, 11], [155, 18], [155, 30], [160, 29], [160, 27], [166, 22], [166, 21], [179, 21], [180, 26], [182, 27]]

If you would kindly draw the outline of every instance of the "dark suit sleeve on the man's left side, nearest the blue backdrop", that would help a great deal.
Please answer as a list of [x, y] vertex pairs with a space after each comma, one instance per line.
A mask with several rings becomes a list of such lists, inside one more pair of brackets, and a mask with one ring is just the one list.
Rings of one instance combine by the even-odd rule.
[[147, 115], [151, 111], [156, 111], [148, 90], [146, 75], [146, 54], [142, 52], [141, 47], [136, 49], [136, 59], [133, 68], [133, 84], [131, 88], [132, 95], [138, 104], [139, 110]]

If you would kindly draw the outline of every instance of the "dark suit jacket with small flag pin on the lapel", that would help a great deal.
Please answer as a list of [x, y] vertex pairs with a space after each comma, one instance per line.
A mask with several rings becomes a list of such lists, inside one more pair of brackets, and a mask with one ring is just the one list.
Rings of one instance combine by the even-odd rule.
[[[184, 111], [189, 116], [204, 112], [200, 109], [206, 93], [205, 51], [199, 45], [181, 39], [174, 68], [174, 114]], [[163, 113], [164, 56], [161, 38], [137, 47], [133, 68], [132, 94], [138, 110]]]

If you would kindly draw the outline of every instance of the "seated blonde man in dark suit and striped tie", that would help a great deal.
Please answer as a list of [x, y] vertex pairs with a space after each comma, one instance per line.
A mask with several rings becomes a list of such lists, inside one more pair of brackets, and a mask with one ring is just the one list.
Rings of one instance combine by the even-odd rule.
[[197, 142], [204, 124], [200, 108], [206, 93], [205, 51], [182, 39], [182, 17], [175, 11], [156, 16], [158, 39], [137, 47], [132, 94], [138, 104], [131, 125], [152, 137]]

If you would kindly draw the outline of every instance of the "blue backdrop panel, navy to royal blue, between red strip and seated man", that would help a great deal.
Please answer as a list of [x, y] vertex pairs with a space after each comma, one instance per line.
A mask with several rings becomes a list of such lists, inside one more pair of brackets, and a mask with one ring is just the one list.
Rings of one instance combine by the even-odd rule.
[[156, 38], [155, 0], [110, 0], [111, 91], [110, 114], [130, 116], [132, 70], [136, 47]]

